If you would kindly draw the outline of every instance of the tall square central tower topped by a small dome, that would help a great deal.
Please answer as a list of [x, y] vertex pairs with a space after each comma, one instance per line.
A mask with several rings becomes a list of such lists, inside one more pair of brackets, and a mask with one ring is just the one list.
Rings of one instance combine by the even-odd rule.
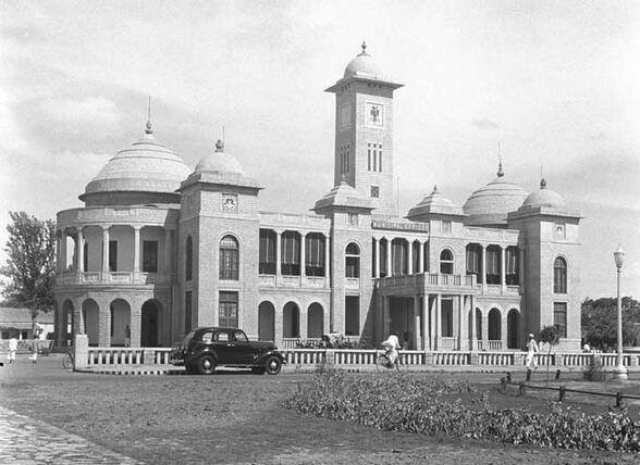
[[343, 78], [327, 89], [335, 93], [334, 185], [346, 180], [371, 199], [374, 214], [393, 215], [393, 91], [402, 84], [361, 47]]

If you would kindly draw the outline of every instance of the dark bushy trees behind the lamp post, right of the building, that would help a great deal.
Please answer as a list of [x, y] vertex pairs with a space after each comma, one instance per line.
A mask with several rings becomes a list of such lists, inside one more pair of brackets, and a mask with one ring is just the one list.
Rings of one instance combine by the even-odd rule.
[[[640, 339], [640, 303], [624, 297], [623, 303], [623, 344], [635, 345]], [[615, 298], [596, 300], [584, 299], [582, 302], [582, 338], [594, 349], [607, 351], [617, 345], [617, 302]]]

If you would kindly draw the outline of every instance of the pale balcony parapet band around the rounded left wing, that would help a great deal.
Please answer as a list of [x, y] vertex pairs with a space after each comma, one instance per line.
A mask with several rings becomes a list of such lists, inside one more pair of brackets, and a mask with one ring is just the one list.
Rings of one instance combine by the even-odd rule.
[[56, 276], [57, 286], [131, 286], [171, 282], [171, 273], [66, 272]]

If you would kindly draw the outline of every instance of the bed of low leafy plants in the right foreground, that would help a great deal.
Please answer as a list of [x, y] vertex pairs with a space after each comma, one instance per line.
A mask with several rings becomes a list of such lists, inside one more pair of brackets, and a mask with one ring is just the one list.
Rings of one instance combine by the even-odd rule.
[[299, 387], [285, 406], [385, 430], [563, 449], [640, 451], [640, 424], [624, 412], [586, 415], [557, 403], [545, 412], [499, 410], [484, 393], [460, 380], [323, 373]]

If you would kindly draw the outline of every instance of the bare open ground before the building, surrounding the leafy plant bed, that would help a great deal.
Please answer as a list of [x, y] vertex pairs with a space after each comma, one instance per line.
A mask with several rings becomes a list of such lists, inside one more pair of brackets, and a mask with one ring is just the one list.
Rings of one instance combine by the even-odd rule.
[[[638, 463], [633, 454], [385, 432], [284, 409], [309, 376], [71, 374], [51, 355], [0, 368], [0, 404], [152, 464]], [[547, 405], [543, 397], [501, 394], [500, 374], [416, 376], [467, 377], [502, 407]], [[605, 412], [606, 404], [588, 409]]]

